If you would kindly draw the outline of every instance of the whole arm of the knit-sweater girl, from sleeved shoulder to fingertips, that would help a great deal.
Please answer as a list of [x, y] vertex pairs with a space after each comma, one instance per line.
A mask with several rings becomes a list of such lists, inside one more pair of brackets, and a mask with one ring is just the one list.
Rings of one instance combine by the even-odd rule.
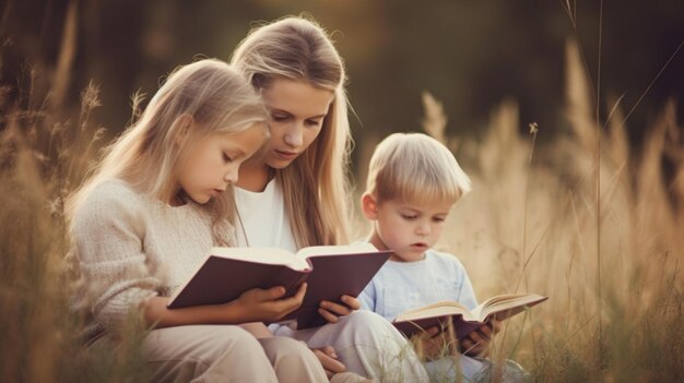
[[[150, 272], [158, 262], [144, 252], [150, 218], [139, 194], [119, 182], [99, 185], [80, 207], [72, 232], [83, 291], [78, 304], [92, 313], [105, 331], [120, 327], [131, 308], [140, 308], [151, 326], [237, 324], [276, 321], [302, 304], [306, 285], [294, 297], [285, 289], [253, 289], [225, 304], [168, 310], [168, 298], [157, 297], [160, 280]], [[82, 298], [85, 297], [85, 298]]]

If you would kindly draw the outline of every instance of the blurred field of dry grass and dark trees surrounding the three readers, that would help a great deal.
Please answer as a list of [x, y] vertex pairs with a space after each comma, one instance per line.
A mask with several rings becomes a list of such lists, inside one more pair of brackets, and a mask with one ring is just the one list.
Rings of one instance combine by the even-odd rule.
[[80, 352], [63, 201], [133, 94], [302, 12], [346, 62], [350, 202], [379, 140], [427, 132], [473, 180], [437, 248], [481, 299], [550, 297], [493, 359], [539, 382], [684, 381], [681, 0], [0, 1], [0, 381], [145, 381], [134, 315], [118, 348]]

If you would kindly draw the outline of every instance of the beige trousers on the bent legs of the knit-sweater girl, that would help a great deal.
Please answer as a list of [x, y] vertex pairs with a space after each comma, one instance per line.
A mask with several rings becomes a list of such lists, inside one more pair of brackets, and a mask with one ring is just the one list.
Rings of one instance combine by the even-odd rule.
[[238, 326], [153, 330], [143, 342], [154, 382], [327, 382], [300, 342], [256, 339]]

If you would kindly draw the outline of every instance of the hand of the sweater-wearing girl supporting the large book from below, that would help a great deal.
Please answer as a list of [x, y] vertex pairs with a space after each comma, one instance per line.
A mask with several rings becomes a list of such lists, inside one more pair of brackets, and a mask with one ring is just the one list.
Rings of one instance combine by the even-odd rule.
[[273, 322], [283, 319], [302, 306], [306, 283], [299, 286], [297, 294], [290, 298], [280, 299], [285, 295], [282, 286], [263, 290], [255, 288], [243, 292], [239, 298], [226, 304], [237, 306], [245, 313], [245, 322]]

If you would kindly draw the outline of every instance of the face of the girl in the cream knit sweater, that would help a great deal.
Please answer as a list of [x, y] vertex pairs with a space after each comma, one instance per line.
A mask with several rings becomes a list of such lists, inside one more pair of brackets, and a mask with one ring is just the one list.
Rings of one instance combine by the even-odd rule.
[[[193, 128], [190, 128], [193, 129]], [[209, 134], [191, 144], [177, 171], [177, 189], [204, 204], [237, 181], [239, 166], [261, 146], [262, 127], [236, 133]]]

